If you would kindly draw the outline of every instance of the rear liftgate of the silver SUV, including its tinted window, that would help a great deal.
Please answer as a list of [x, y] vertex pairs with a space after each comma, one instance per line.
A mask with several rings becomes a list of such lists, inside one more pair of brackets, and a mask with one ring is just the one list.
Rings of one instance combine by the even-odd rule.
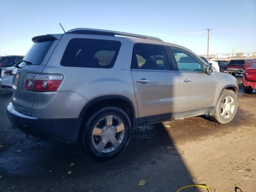
[[24, 89], [26, 75], [41, 73], [57, 44], [58, 40], [50, 37], [48, 39], [38, 38], [23, 59], [29, 63], [22, 62], [14, 70], [12, 105], [17, 111], [32, 115], [33, 91]]

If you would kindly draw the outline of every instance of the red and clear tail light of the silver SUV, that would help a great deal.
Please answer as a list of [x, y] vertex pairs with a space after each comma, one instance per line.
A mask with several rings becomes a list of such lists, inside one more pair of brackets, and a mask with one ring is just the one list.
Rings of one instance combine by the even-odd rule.
[[60, 74], [27, 74], [24, 88], [38, 92], [56, 91], [62, 79], [63, 75]]

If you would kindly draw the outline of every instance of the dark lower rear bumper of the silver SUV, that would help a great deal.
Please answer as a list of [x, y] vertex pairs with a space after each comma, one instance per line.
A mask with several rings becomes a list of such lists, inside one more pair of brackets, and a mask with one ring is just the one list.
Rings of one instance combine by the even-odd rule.
[[12, 128], [18, 128], [27, 135], [66, 143], [77, 142], [82, 122], [80, 118], [38, 119], [18, 112], [12, 103], [7, 106], [7, 114]]

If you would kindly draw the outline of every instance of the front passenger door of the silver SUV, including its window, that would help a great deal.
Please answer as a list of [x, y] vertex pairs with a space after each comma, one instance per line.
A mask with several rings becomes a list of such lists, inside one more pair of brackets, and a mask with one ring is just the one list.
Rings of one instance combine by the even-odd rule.
[[179, 112], [210, 108], [216, 95], [216, 78], [206, 74], [205, 64], [193, 53], [169, 47], [180, 78]]

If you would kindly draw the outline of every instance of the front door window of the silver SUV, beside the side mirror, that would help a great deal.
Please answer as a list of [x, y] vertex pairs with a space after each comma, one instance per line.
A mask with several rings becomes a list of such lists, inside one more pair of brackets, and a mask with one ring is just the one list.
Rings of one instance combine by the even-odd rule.
[[178, 48], [170, 49], [174, 54], [179, 71], [205, 72], [205, 65], [192, 54]]

